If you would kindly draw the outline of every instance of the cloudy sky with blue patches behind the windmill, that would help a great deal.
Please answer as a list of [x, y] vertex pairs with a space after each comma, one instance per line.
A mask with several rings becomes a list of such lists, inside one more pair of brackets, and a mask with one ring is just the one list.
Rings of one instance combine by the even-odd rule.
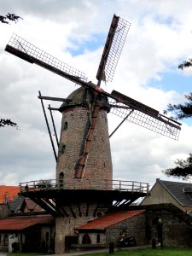
[[[20, 130], [0, 130], [0, 183], [17, 185], [39, 178], [55, 178], [55, 158], [38, 100], [67, 97], [77, 85], [42, 67], [4, 51], [15, 32], [21, 38], [84, 72], [96, 82], [113, 14], [131, 22], [113, 82], [118, 90], [163, 113], [168, 103], [183, 102], [191, 90], [192, 72], [177, 65], [192, 54], [191, 0], [0, 0], [1, 14], [23, 20], [0, 24], [0, 117], [12, 119]], [[44, 102], [48, 107], [49, 102]], [[51, 102], [52, 107], [58, 104]], [[54, 113], [60, 131], [61, 113]], [[119, 118], [108, 115], [109, 130]], [[173, 160], [186, 158], [191, 148], [192, 123], [182, 121], [178, 142], [125, 122], [111, 137], [113, 178], [153, 185]]]

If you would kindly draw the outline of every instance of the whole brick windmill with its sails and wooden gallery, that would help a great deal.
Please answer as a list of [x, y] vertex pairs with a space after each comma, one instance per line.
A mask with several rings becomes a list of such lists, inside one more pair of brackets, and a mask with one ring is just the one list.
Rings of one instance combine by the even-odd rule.
[[[13, 35], [5, 49], [80, 85], [65, 99], [41, 96], [39, 93], [43, 109], [43, 100], [62, 102], [60, 108], [49, 107], [50, 113], [53, 109], [62, 113], [58, 154], [50, 136], [56, 160], [56, 182], [41, 189], [37, 189], [36, 183], [28, 183], [27, 191], [21, 191], [22, 195], [32, 198], [55, 216], [55, 253], [64, 253], [70, 247], [73, 238], [77, 237], [74, 229], [79, 224], [98, 218], [107, 211], [127, 207], [148, 193], [147, 183], [113, 180], [109, 137], [119, 125], [130, 120], [173, 139], [179, 135], [180, 124], [175, 120], [115, 90], [108, 93], [100, 87], [102, 81], [113, 79], [129, 28], [129, 22], [113, 15], [96, 74], [97, 84], [87, 82], [84, 73], [17, 35]], [[123, 118], [110, 136], [108, 112]]]

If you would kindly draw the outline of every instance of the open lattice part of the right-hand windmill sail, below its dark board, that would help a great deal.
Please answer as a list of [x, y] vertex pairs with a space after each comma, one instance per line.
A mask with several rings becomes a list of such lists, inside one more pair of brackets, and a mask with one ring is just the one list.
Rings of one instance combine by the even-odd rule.
[[180, 124], [176, 121], [167, 118], [166, 116], [158, 113], [156, 116], [152, 114], [141, 112], [135, 108], [131, 108], [124, 103], [116, 102], [112, 98], [108, 98], [110, 106], [112, 107], [110, 113], [113, 113], [120, 118], [131, 121], [136, 125], [140, 125], [148, 130], [157, 132], [166, 137], [178, 140], [180, 133]]

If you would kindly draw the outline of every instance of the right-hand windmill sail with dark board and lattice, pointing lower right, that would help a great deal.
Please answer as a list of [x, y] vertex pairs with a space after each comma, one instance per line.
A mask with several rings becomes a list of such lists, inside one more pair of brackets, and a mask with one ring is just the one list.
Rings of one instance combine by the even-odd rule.
[[[125, 96], [116, 90], [112, 91], [112, 97], [108, 97], [111, 113], [126, 118], [136, 125], [140, 125], [148, 130], [155, 131], [166, 137], [178, 140], [181, 130], [181, 124], [173, 119], [169, 119], [165, 115], [159, 113], [154, 108], [137, 102], [131, 97]], [[130, 114], [129, 114], [130, 113]]]

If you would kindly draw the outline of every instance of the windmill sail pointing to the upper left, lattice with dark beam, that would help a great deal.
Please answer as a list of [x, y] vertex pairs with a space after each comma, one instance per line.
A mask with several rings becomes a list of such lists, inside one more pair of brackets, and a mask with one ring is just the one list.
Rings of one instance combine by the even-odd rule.
[[[59, 74], [66, 73], [83, 81], [87, 80], [83, 72], [67, 65], [65, 62], [58, 60], [54, 56], [49, 55], [44, 50], [39, 49], [16, 34], [12, 35], [5, 50], [30, 63], [36, 63], [37, 65], [47, 69], [50, 69], [49, 67], [51, 67], [52, 72]], [[53, 68], [55, 68], [55, 71]]]

